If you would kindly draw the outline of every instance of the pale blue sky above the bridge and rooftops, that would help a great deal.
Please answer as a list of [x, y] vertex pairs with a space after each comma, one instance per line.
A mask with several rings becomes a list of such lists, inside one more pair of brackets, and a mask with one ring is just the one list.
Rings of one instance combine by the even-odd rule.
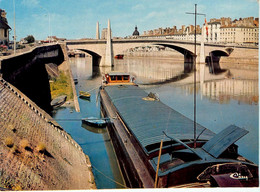
[[[259, 17], [259, 0], [0, 0], [12, 28], [14, 15], [17, 40], [33, 35], [46, 39], [54, 35], [66, 39], [95, 38], [110, 19], [112, 35], [126, 37], [135, 26], [144, 31], [181, 25], [194, 25], [194, 16], [186, 12], [206, 14], [206, 19]], [[15, 7], [15, 9], [14, 9]], [[15, 13], [15, 14], [14, 14]], [[203, 24], [204, 16], [197, 16]]]

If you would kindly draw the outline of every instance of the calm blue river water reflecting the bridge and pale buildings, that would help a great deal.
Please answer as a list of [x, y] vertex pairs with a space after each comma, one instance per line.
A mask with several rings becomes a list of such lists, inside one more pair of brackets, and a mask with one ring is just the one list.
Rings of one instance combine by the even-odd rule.
[[[93, 68], [90, 57], [70, 58], [69, 62], [74, 78], [78, 79], [77, 93], [80, 90], [89, 91], [91, 99], [79, 98], [80, 113], [75, 112], [73, 107], [63, 107], [54, 111], [53, 118], [89, 155], [97, 188], [123, 188], [124, 181], [106, 130], [97, 131], [81, 124], [84, 117], [100, 117], [97, 95], [101, 74], [111, 70], [130, 72], [147, 93], [157, 93], [163, 103], [192, 120], [193, 75], [183, 76], [183, 63], [174, 62], [172, 58], [128, 57], [115, 60], [113, 68]], [[231, 124], [247, 129], [249, 133], [236, 143], [239, 153], [259, 164], [258, 80], [249, 79], [248, 75], [243, 77], [244, 70], [230, 71], [234, 77], [224, 79], [224, 73], [210, 75], [205, 69], [205, 82], [196, 85], [196, 120], [215, 133]]]

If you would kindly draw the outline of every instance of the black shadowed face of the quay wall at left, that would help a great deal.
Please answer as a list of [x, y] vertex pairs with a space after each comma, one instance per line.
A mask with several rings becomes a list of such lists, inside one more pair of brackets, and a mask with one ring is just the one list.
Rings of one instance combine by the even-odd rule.
[[17, 87], [39, 107], [51, 111], [51, 94], [45, 64], [60, 65], [64, 54], [59, 44], [36, 47], [0, 61], [0, 76]]

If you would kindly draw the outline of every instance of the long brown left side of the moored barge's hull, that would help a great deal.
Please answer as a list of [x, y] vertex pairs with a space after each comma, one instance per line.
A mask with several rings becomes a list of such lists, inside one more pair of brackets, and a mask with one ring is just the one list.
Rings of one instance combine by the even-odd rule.
[[138, 156], [138, 151], [128, 137], [127, 128], [113, 109], [112, 102], [104, 90], [100, 91], [100, 95], [101, 112], [105, 117], [113, 119], [113, 124], [108, 124], [107, 129], [127, 187], [154, 187], [154, 179]]

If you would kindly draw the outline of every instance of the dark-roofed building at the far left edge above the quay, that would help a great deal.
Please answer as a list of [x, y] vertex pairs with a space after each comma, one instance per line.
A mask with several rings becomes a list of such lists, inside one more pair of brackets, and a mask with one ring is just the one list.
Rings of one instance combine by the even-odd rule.
[[8, 25], [6, 12], [0, 9], [0, 44], [9, 45], [9, 29], [11, 27]]

